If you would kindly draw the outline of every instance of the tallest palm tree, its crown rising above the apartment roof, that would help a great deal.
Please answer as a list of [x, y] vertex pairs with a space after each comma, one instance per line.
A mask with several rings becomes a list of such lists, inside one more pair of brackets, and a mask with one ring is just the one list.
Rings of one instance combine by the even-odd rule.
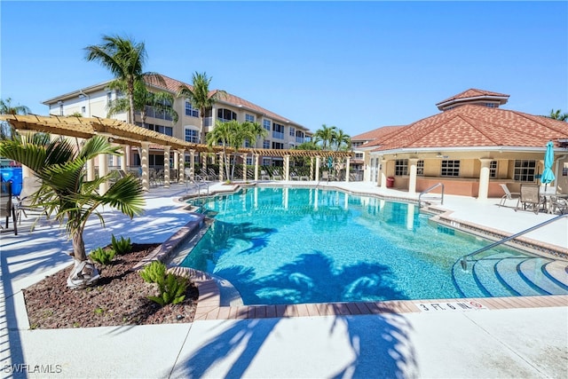
[[98, 61], [103, 67], [108, 68], [114, 75], [115, 82], [118, 82], [111, 83], [111, 86], [125, 89], [130, 103], [129, 122], [134, 123], [136, 83], [144, 83], [144, 75], [163, 83], [162, 75], [144, 73], [143, 68], [147, 58], [144, 43], [137, 43], [121, 36], [103, 36], [102, 39], [103, 43], [84, 48], [85, 59]]

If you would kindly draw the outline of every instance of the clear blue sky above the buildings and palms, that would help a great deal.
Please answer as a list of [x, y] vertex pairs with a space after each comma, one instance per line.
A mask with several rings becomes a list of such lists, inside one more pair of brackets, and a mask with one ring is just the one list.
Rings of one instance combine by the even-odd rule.
[[351, 136], [438, 113], [469, 88], [568, 112], [568, 2], [0, 2], [0, 98], [42, 101], [111, 79], [83, 48], [146, 43], [146, 71]]

